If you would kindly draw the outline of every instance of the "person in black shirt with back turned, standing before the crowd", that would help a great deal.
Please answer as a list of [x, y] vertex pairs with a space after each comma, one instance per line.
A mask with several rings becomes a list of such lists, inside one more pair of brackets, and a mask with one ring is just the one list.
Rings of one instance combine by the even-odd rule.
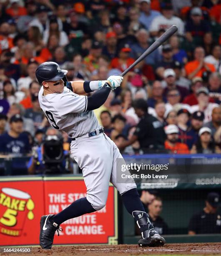
[[166, 134], [163, 125], [152, 115], [148, 114], [148, 105], [146, 100], [137, 99], [133, 102], [135, 113], [140, 118], [136, 131], [133, 136], [126, 142], [118, 145], [120, 149], [139, 141], [143, 152], [150, 150], [162, 150], [164, 148], [164, 141]]

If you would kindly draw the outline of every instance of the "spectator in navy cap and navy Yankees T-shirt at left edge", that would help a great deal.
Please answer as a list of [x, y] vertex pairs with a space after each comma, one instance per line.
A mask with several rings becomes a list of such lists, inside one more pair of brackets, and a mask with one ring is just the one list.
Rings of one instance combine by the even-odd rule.
[[30, 151], [28, 136], [23, 133], [21, 115], [13, 115], [10, 120], [10, 130], [0, 136], [0, 152], [25, 154]]

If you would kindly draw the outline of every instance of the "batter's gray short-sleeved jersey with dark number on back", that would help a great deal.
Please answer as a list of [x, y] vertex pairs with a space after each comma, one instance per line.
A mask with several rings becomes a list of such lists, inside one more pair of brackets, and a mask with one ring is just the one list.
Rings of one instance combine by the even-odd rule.
[[38, 100], [52, 127], [65, 131], [72, 138], [100, 127], [93, 111], [86, 111], [87, 96], [78, 95], [64, 87], [62, 93], [43, 96], [41, 87]]

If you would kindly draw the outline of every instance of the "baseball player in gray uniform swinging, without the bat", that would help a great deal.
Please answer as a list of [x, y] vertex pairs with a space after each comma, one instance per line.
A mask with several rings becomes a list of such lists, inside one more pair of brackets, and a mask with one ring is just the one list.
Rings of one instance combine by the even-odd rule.
[[[139, 246], [163, 246], [161, 237], [149, 220], [141, 203], [136, 184], [117, 183], [116, 160], [123, 158], [116, 146], [105, 135], [93, 110], [106, 101], [111, 90], [121, 85], [123, 77], [111, 76], [106, 81], [68, 82], [67, 70], [55, 62], [44, 62], [36, 70], [42, 85], [38, 100], [53, 128], [65, 131], [72, 138], [70, 151], [82, 169], [87, 187], [86, 197], [80, 198], [56, 215], [44, 215], [40, 220], [40, 246], [50, 249], [60, 224], [85, 213], [102, 209], [108, 197], [109, 182], [119, 191], [128, 212], [141, 230]], [[92, 96], [84, 96], [96, 91]], [[129, 172], [128, 172], [129, 174]], [[58, 232], [59, 235], [59, 232]]]

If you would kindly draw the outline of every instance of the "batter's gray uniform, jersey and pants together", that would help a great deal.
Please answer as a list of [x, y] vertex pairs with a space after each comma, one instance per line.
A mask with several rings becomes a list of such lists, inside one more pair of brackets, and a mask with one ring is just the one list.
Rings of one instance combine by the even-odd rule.
[[86, 96], [75, 94], [67, 87], [62, 93], [43, 96], [43, 87], [41, 87], [38, 99], [50, 125], [76, 138], [71, 142], [70, 151], [82, 169], [87, 187], [86, 198], [95, 210], [104, 207], [108, 197], [109, 182], [120, 194], [136, 188], [136, 184], [131, 179], [125, 179], [125, 183], [117, 182], [117, 159], [123, 157], [116, 144], [103, 133], [88, 137], [87, 133], [99, 128], [100, 125], [93, 111], [85, 111]]

